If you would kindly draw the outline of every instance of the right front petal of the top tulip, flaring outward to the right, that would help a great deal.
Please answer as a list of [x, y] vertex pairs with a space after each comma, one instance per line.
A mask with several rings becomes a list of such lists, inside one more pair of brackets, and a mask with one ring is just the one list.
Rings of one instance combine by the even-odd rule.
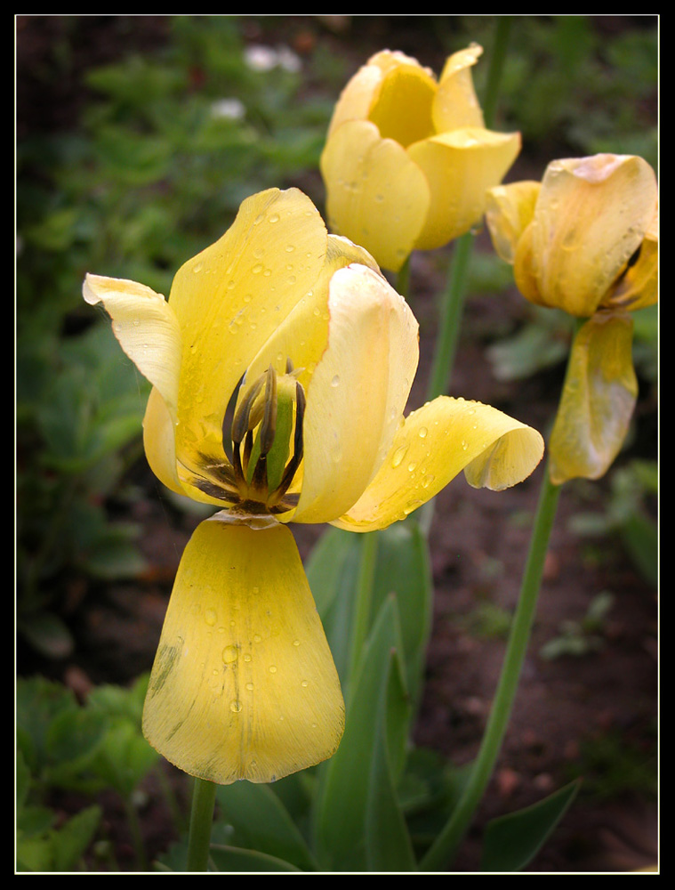
[[420, 250], [443, 247], [480, 222], [486, 191], [502, 182], [520, 151], [520, 134], [467, 127], [416, 142], [408, 155], [425, 175], [431, 194]]

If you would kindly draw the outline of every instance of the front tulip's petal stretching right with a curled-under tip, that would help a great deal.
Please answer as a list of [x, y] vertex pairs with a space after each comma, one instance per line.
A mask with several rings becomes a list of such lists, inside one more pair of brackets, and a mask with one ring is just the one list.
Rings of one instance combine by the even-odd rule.
[[542, 459], [542, 436], [480, 402], [440, 396], [406, 417], [366, 492], [333, 522], [350, 531], [405, 519], [464, 470], [473, 486], [502, 490]]

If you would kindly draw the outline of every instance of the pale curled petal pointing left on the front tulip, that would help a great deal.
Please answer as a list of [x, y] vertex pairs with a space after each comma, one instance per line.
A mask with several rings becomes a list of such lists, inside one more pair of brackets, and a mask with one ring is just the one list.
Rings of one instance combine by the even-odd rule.
[[103, 304], [120, 345], [175, 421], [182, 339], [173, 308], [152, 288], [127, 279], [88, 274], [82, 292], [87, 303]]

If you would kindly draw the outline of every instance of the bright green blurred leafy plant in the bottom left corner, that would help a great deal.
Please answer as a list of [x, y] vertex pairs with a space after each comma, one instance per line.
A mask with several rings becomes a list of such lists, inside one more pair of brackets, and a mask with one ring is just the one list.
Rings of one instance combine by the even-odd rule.
[[[17, 868], [52, 872], [83, 870], [83, 857], [100, 831], [98, 792], [122, 797], [134, 837], [140, 837], [133, 792], [157, 765], [157, 751], [141, 735], [148, 676], [130, 690], [100, 686], [85, 705], [41, 677], [17, 686]], [[52, 804], [54, 791], [72, 791], [88, 802], [68, 821]], [[139, 864], [145, 864], [138, 840]]]

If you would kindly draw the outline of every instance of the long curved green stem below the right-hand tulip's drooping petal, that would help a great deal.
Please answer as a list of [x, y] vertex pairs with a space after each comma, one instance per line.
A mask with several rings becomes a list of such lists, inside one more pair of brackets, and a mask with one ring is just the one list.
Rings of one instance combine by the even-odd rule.
[[553, 485], [550, 481], [549, 468], [546, 466], [539, 504], [534, 517], [534, 530], [520, 588], [518, 606], [511, 622], [509, 643], [502, 665], [502, 676], [494, 695], [486, 732], [462, 797], [451, 819], [446, 823], [446, 827], [422, 859], [420, 863], [422, 871], [446, 870], [449, 863], [453, 862], [492, 776], [494, 764], [502, 748], [504, 733], [509, 724], [513, 701], [518, 691], [518, 681], [534, 622], [537, 598], [542, 582], [543, 563], [549, 546], [550, 531], [555, 519], [559, 493], [560, 486]]

